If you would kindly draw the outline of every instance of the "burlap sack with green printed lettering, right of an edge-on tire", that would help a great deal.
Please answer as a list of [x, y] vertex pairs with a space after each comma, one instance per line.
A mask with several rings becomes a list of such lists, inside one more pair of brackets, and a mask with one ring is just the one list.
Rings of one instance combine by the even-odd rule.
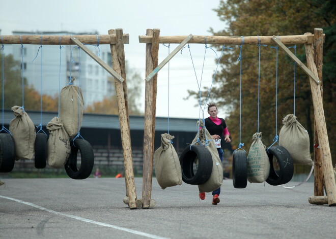
[[269, 175], [270, 163], [266, 147], [261, 141], [261, 132], [253, 135], [253, 142], [247, 155], [247, 180], [250, 183], [263, 183]]

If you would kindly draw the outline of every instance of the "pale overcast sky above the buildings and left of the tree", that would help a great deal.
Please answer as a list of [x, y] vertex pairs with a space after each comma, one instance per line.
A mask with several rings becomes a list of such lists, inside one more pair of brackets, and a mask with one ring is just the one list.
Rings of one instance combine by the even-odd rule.
[[[0, 7], [0, 29], [2, 35], [12, 31], [98, 31], [107, 34], [108, 29], [123, 28], [129, 33], [129, 44], [125, 45], [125, 58], [131, 67], [145, 79], [145, 44], [138, 42], [139, 35], [146, 35], [147, 28], [159, 28], [160, 36], [210, 35], [225, 28], [213, 9], [219, 0], [3, 0]], [[171, 45], [171, 51], [177, 44]], [[198, 80], [201, 79], [205, 47], [192, 44], [190, 47]], [[159, 63], [168, 54], [162, 44], [159, 48]], [[217, 52], [219, 56], [219, 52]], [[207, 51], [202, 86], [210, 86], [215, 71], [215, 53]], [[156, 115], [168, 115], [168, 64], [159, 72]], [[144, 87], [145, 89], [145, 82]], [[198, 99], [189, 98], [187, 90], [198, 90], [190, 54], [187, 49], [178, 53], [170, 64], [170, 117], [199, 118]], [[141, 108], [144, 111], [144, 93]], [[215, 99], [212, 99], [215, 101]], [[205, 103], [203, 102], [202, 105]], [[224, 112], [220, 112], [225, 117]], [[208, 117], [205, 112], [205, 117]]]

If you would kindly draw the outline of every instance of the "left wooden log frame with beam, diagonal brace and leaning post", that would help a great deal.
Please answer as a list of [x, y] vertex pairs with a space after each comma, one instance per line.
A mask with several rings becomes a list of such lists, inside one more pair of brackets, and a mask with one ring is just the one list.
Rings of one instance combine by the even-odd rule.
[[2, 36], [3, 44], [35, 44], [35, 45], [77, 45], [80, 49], [92, 57], [111, 76], [115, 78], [116, 95], [118, 100], [118, 111], [122, 147], [124, 152], [124, 168], [126, 182], [126, 196], [130, 209], [136, 209], [136, 191], [134, 183], [134, 172], [132, 162], [132, 149], [130, 139], [129, 114], [127, 103], [126, 86], [126, 63], [124, 44], [129, 43], [129, 35], [123, 34], [121, 28], [108, 30], [108, 35], [99, 35], [99, 44], [109, 44], [112, 56], [113, 69], [101, 60], [96, 54], [83, 44], [97, 44], [96, 35], [78, 36], [50, 36], [50, 35], [14, 35]]

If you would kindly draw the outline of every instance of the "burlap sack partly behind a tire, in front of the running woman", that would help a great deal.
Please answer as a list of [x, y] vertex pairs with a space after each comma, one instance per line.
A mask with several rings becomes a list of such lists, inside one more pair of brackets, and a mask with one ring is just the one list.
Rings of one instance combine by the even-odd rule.
[[217, 148], [211, 138], [209, 131], [205, 127], [203, 127], [204, 122], [200, 120], [198, 121], [198, 125], [202, 128], [199, 130], [199, 135], [196, 135], [193, 139], [192, 144], [195, 143], [195, 145], [200, 145], [197, 140], [198, 138], [201, 141], [202, 145], [205, 145], [206, 140], [208, 140], [208, 146], [205, 146], [205, 148], [210, 151], [212, 156], [212, 172], [210, 178], [204, 184], [199, 185], [199, 190], [200, 192], [212, 192], [218, 189], [223, 182], [223, 166], [220, 161]]

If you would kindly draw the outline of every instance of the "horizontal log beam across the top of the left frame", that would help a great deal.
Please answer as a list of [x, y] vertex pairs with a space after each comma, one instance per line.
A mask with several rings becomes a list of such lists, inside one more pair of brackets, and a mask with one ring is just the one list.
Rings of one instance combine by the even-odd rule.
[[[99, 45], [103, 44], [116, 44], [116, 35], [77, 35], [77, 36], [57, 36], [57, 35], [4, 35], [3, 44], [32, 44], [32, 45], [71, 45], [73, 44], [70, 40], [71, 37], [75, 37], [84, 44]], [[129, 35], [123, 35], [124, 44], [129, 43]], [[1, 41], [1, 39], [0, 39]], [[1, 42], [0, 42], [1, 44]]]

